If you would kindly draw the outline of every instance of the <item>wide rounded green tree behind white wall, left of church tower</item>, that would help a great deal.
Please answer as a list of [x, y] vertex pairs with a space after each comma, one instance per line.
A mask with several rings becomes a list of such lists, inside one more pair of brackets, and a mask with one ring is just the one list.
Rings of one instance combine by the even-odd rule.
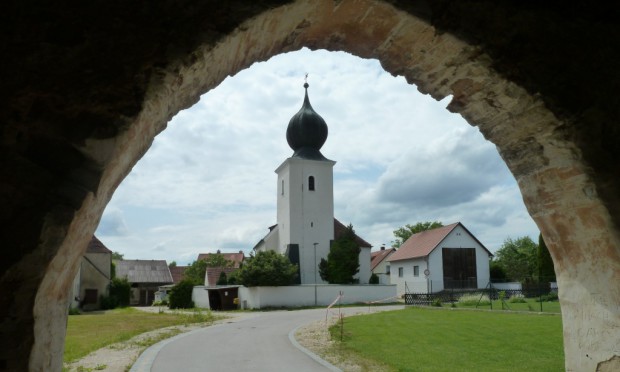
[[276, 251], [263, 251], [250, 256], [238, 273], [246, 287], [285, 286], [297, 278], [297, 265]]

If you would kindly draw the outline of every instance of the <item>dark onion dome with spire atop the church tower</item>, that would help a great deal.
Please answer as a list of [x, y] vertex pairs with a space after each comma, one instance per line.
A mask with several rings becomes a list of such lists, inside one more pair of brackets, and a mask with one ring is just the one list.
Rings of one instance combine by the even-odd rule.
[[304, 84], [306, 97], [301, 109], [293, 115], [286, 129], [286, 141], [293, 149], [293, 157], [310, 160], [328, 160], [321, 154], [327, 140], [327, 124], [317, 114], [308, 99], [308, 83]]

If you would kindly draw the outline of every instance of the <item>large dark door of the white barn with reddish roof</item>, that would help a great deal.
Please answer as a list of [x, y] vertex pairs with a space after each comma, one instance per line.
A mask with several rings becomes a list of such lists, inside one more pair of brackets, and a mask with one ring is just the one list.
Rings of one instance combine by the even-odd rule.
[[445, 289], [476, 288], [476, 249], [443, 248], [443, 286]]

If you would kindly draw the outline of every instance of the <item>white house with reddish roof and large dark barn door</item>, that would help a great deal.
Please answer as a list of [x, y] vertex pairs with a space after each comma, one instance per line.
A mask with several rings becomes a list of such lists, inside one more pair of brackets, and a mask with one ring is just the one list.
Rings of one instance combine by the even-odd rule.
[[460, 222], [412, 235], [387, 261], [398, 295], [484, 288], [493, 255]]

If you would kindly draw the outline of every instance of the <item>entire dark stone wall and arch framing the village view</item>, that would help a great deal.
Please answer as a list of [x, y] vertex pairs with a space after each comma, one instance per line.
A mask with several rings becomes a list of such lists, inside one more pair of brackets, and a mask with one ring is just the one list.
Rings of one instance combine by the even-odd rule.
[[620, 369], [618, 15], [507, 1], [7, 1], [0, 369], [60, 370], [79, 258], [170, 118], [302, 46], [377, 58], [420, 92], [452, 96], [449, 109], [497, 145], [545, 237], [567, 370]]

